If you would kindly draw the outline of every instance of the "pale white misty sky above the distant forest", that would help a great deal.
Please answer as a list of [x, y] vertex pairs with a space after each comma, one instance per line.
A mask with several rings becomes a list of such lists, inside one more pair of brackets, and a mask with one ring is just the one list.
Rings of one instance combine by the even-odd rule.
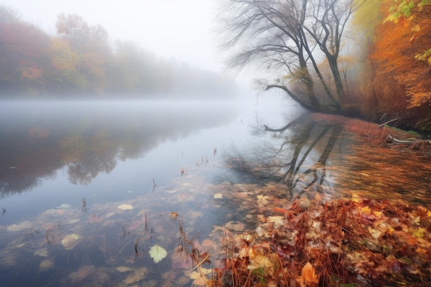
[[78, 14], [89, 25], [102, 25], [110, 40], [133, 40], [166, 59], [220, 71], [215, 47], [218, 0], [0, 0], [24, 21], [55, 34], [59, 13]]

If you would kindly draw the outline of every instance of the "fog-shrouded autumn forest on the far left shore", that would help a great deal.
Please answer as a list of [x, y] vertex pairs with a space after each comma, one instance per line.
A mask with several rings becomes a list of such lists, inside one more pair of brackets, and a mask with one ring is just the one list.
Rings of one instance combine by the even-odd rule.
[[77, 14], [59, 14], [56, 35], [50, 35], [0, 5], [0, 90], [3, 98], [229, 98], [235, 83], [132, 41], [112, 44], [105, 28]]

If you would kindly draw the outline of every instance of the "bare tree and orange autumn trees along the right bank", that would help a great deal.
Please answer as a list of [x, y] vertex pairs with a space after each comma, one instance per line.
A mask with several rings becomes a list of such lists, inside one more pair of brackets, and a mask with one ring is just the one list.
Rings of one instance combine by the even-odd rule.
[[431, 131], [430, 0], [226, 0], [228, 65], [305, 109]]

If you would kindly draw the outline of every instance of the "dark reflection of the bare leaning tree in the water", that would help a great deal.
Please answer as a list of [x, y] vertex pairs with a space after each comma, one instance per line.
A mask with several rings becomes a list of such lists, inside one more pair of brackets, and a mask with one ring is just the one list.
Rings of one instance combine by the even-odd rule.
[[304, 114], [280, 129], [264, 126], [260, 130], [259, 136], [266, 140], [245, 153], [235, 149], [227, 158], [229, 167], [255, 180], [284, 184], [290, 198], [330, 189], [328, 161], [337, 156], [333, 154], [335, 147], [342, 149], [349, 142], [340, 137], [341, 123], [328, 125]]

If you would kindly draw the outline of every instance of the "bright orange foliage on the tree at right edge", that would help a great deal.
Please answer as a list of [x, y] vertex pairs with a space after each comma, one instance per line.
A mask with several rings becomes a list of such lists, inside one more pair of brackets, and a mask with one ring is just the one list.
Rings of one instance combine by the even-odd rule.
[[[382, 4], [383, 13], [386, 12], [387, 16], [386, 6]], [[423, 13], [430, 12], [431, 6], [423, 8]], [[381, 23], [376, 31], [377, 41], [370, 58], [380, 74], [395, 78], [401, 85], [408, 96], [409, 108], [431, 104], [431, 65], [415, 59], [425, 47], [431, 46], [430, 34], [429, 17], [403, 18], [396, 25]]]

